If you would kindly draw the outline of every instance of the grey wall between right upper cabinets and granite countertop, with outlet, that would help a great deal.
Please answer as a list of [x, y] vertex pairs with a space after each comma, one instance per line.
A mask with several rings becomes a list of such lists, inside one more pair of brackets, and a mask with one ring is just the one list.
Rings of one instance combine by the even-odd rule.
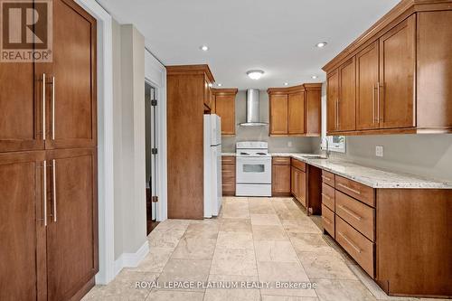
[[[315, 138], [315, 152], [319, 145]], [[383, 146], [383, 157], [375, 156], [375, 146]], [[363, 165], [452, 181], [452, 135], [347, 136], [346, 153], [332, 154]]]

